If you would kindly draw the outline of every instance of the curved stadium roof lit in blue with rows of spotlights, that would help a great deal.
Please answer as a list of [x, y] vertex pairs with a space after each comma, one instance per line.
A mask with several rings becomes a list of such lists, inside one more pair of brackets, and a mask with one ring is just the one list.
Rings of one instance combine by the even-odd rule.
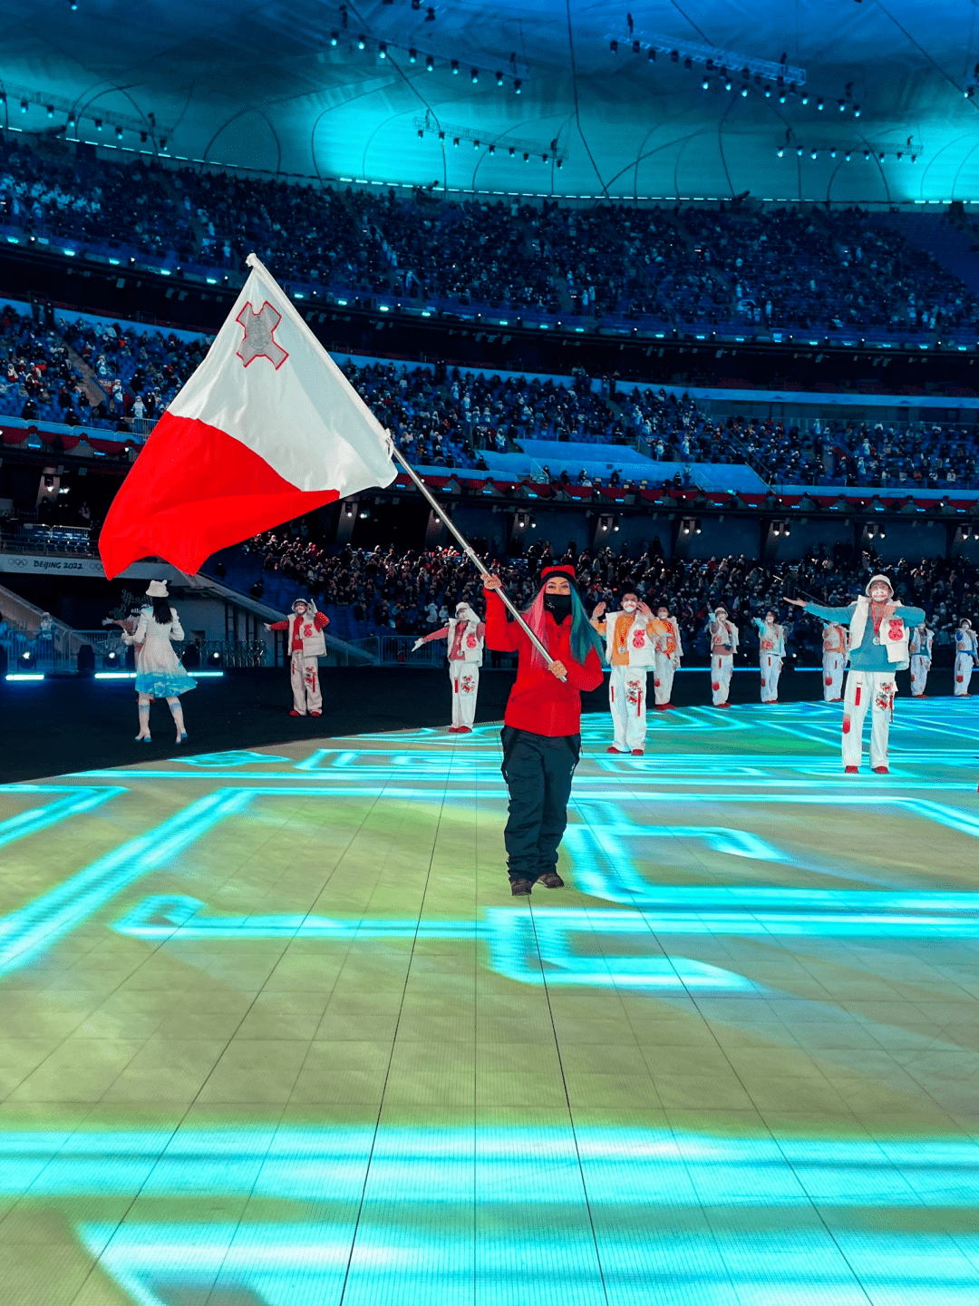
[[72, 4], [0, 0], [8, 125], [450, 193], [979, 199], [975, 0]]

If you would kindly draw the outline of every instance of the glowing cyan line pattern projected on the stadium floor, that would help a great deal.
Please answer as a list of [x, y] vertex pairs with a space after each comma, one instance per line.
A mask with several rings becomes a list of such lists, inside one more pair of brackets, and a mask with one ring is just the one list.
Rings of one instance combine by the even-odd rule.
[[[478, 947], [483, 966], [531, 1002], [542, 990], [630, 991], [660, 1015], [663, 1000], [687, 1010], [705, 995], [739, 998], [758, 1003], [758, 1012], [762, 1003], [783, 1012], [794, 1003], [801, 1021], [829, 1029], [846, 1016], [831, 993], [803, 1000], [764, 982], [738, 940], [779, 949], [860, 940], [869, 965], [873, 947], [888, 940], [888, 955], [912, 942], [910, 964], [927, 960], [936, 977], [958, 968], [957, 1015], [963, 999], [975, 1008], [979, 892], [962, 887], [962, 868], [979, 868], [976, 710], [935, 701], [905, 709], [884, 780], [839, 774], [837, 720], [818, 704], [721, 717], [692, 709], [651, 722], [638, 760], [595, 751], [606, 722], [590, 718], [565, 845], [574, 900], [559, 905], [548, 896], [538, 905], [535, 896], [531, 908], [501, 901], [454, 918], [234, 914], [192, 892], [153, 892], [151, 882], [159, 871], [179, 875], [181, 855], [227, 823], [298, 795], [501, 810], [488, 727], [465, 743], [418, 731], [330, 743], [296, 759], [243, 751], [8, 786], [3, 798], [14, 810], [0, 820], [0, 846], [111, 812], [145, 786], [172, 785], [181, 806], [87, 865], [67, 867], [60, 883], [8, 912], [0, 972], [27, 977], [99, 921], [120, 938], [171, 948], [218, 939], [240, 949], [270, 939], [324, 948], [432, 939]], [[761, 731], [768, 751], [752, 751]], [[702, 734], [715, 741], [713, 752], [698, 751]], [[805, 812], [826, 808], [915, 823], [935, 866], [949, 865], [948, 883], [931, 875], [915, 884], [906, 866], [888, 868], [850, 845], [831, 858], [807, 848]], [[701, 883], [651, 874], [677, 849], [688, 870], [702, 868]], [[149, 892], [133, 897], [144, 880]], [[627, 944], [621, 953], [616, 940]], [[707, 944], [719, 946], [711, 960], [697, 955]], [[952, 956], [941, 951], [949, 947]], [[56, 989], [50, 1000], [57, 1003]], [[730, 1019], [738, 1012], [732, 1007]], [[873, 1013], [862, 1021], [880, 1046]], [[906, 1030], [906, 1047], [954, 1053], [962, 1077], [979, 1077], [975, 1047], [940, 1029], [925, 1034], [920, 1024]], [[599, 1122], [569, 1109], [563, 1122], [527, 1124], [493, 1122], [486, 1110], [450, 1124], [426, 1114], [420, 1107], [411, 1124], [388, 1123], [379, 1111], [373, 1123], [322, 1127], [256, 1113], [225, 1128], [188, 1121], [4, 1128], [0, 1199], [10, 1204], [0, 1243], [10, 1211], [74, 1211], [89, 1199], [138, 1195], [144, 1207], [159, 1199], [187, 1212], [161, 1221], [141, 1208], [124, 1220], [72, 1224], [93, 1269], [144, 1306], [979, 1299], [979, 1147], [967, 1111], [950, 1113], [940, 1131], [907, 1134], [882, 1121], [873, 1134], [864, 1122], [856, 1136], [852, 1121], [816, 1131], [812, 1122], [783, 1131], [768, 1122], [758, 1132], [732, 1117], [724, 1132], [668, 1121], [641, 1127], [628, 1110]], [[245, 1207], [235, 1218], [201, 1222], [198, 1203], [215, 1195]], [[249, 1218], [262, 1203], [277, 1204], [275, 1218]], [[292, 1218], [292, 1208], [305, 1215]], [[86, 1276], [77, 1294], [50, 1299], [119, 1298], [99, 1296]]]

